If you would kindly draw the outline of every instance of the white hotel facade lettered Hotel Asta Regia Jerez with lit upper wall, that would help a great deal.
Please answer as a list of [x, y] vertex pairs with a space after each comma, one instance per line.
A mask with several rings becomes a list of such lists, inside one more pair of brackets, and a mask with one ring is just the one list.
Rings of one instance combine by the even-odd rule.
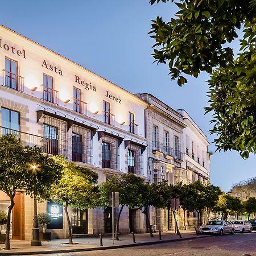
[[[108, 176], [133, 172], [147, 179], [147, 143], [144, 109], [147, 103], [112, 82], [73, 63], [24, 36], [0, 26], [1, 134], [18, 133], [24, 145], [43, 148], [51, 155], [97, 172], [98, 182]], [[52, 238], [67, 237], [67, 221], [59, 205], [38, 205], [39, 213], [59, 209], [59, 220], [47, 228]], [[0, 209], [9, 197], [0, 193]], [[69, 209], [74, 234], [112, 232], [111, 210]], [[12, 236], [31, 240], [32, 199], [22, 191], [15, 196]], [[142, 214], [143, 215], [143, 214]], [[121, 232], [136, 221], [144, 231], [139, 211], [121, 218]], [[128, 216], [128, 217], [127, 217]]]

